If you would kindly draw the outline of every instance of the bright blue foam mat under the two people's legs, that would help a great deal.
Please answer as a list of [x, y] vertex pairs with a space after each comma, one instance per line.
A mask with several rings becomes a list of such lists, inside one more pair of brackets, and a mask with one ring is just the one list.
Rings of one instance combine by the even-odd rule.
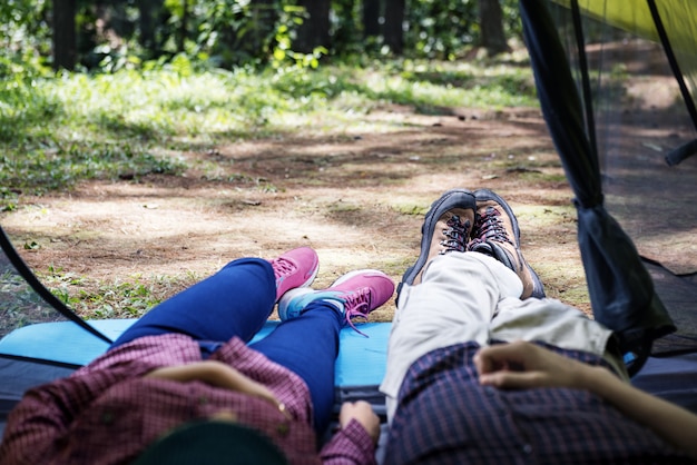
[[[111, 339], [116, 339], [136, 319], [96, 319], [87, 321]], [[279, 321], [267, 321], [254, 340], [266, 337]], [[352, 328], [340, 334], [336, 359], [336, 386], [376, 386], [385, 370], [390, 323], [357, 325], [364, 337]], [[0, 354], [87, 365], [104, 354], [108, 344], [72, 321], [38, 323], [18, 328], [0, 340]]]

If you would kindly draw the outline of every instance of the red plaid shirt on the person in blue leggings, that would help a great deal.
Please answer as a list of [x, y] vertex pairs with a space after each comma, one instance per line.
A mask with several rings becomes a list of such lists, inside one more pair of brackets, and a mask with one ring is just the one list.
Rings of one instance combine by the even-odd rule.
[[209, 359], [266, 385], [285, 404], [288, 421], [268, 402], [200, 382], [144, 378], [164, 366], [202, 359], [188, 336], [138, 338], [102, 355], [67, 378], [29, 390], [10, 414], [1, 464], [124, 464], [185, 422], [233, 412], [265, 433], [293, 464], [372, 464], [374, 447], [356, 421], [316, 449], [306, 384], [237, 338]]

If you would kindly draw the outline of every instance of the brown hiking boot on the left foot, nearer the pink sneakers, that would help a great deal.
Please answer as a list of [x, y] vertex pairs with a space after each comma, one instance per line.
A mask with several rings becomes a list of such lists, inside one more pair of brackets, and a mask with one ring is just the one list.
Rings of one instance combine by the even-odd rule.
[[404, 273], [397, 294], [403, 284], [421, 283], [423, 268], [433, 257], [467, 250], [474, 224], [474, 196], [465, 189], [451, 189], [431, 205], [421, 227], [421, 254]]

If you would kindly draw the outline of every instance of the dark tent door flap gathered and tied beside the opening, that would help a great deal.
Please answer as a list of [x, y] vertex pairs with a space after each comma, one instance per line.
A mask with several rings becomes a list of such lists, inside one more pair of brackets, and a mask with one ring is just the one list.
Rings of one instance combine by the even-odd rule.
[[593, 316], [617, 332], [624, 352], [638, 355], [636, 370], [652, 342], [676, 328], [634, 243], [605, 209], [597, 147], [589, 140], [588, 119], [547, 4], [521, 0], [520, 6], [542, 112], [576, 195]]

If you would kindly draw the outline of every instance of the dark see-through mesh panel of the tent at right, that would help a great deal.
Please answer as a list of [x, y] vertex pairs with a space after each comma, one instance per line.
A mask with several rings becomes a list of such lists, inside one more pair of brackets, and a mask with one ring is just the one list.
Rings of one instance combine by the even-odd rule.
[[[583, 9], [589, 2], [579, 3]], [[554, 3], [550, 11], [582, 95], [571, 12]], [[675, 19], [664, 16], [669, 38], [680, 28]], [[611, 23], [582, 16], [605, 204], [635, 243], [678, 327], [655, 343], [654, 353], [697, 349], [697, 156], [666, 162], [668, 154], [697, 139], [695, 121], [661, 44]], [[694, 105], [697, 56], [694, 48], [676, 55]]]

